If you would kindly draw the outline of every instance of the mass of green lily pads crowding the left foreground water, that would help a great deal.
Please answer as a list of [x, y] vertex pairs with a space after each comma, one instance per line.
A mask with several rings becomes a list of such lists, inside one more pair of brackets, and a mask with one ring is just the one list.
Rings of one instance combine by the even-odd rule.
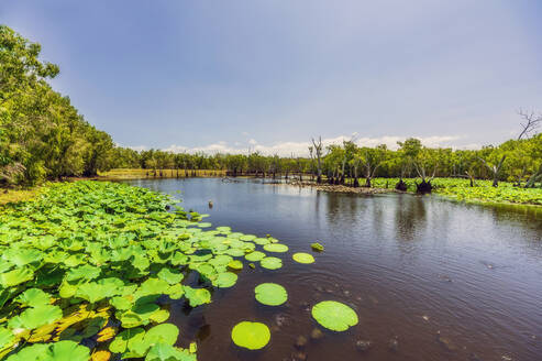
[[[214, 287], [236, 283], [243, 259], [251, 267], [279, 269], [281, 260], [263, 251], [286, 252], [288, 247], [229, 227], [204, 230], [211, 227], [202, 221], [206, 215], [180, 207], [168, 211], [170, 203], [145, 188], [86, 180], [52, 184], [38, 199], [3, 209], [0, 359], [196, 360], [196, 343], [175, 346], [179, 329], [167, 322], [170, 305], [210, 303]], [[294, 259], [314, 261], [308, 253]], [[199, 282], [188, 285], [191, 272]], [[256, 297], [275, 305], [286, 302], [287, 294], [264, 284]], [[334, 310], [321, 303], [312, 314], [322, 326], [339, 330], [329, 317], [335, 313], [341, 319], [344, 309], [331, 306]], [[247, 332], [243, 325], [232, 335], [239, 336], [236, 344], [251, 348], [253, 328]], [[266, 335], [256, 338], [263, 343]]]

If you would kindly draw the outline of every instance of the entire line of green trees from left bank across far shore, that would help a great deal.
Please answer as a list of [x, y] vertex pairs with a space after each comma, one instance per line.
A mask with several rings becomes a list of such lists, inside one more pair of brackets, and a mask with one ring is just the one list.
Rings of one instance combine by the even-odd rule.
[[[85, 120], [68, 97], [54, 91], [48, 79], [58, 66], [40, 58], [40, 44], [0, 25], [0, 184], [33, 185], [45, 179], [96, 176], [111, 168], [226, 169], [231, 176], [311, 175], [317, 182], [372, 186], [375, 177], [465, 177], [515, 182], [534, 187], [542, 182], [542, 116], [520, 113], [518, 138], [482, 150], [432, 149], [417, 139], [360, 146], [354, 139], [325, 146], [312, 140], [310, 156], [136, 152], [115, 146], [112, 138]], [[397, 185], [401, 188], [401, 182]]]

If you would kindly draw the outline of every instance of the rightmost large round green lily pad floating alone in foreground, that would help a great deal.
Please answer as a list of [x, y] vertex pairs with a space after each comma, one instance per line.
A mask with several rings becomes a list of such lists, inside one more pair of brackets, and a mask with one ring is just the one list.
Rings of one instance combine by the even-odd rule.
[[312, 317], [333, 331], [345, 331], [357, 325], [357, 315], [349, 306], [336, 300], [324, 300], [312, 307]]

